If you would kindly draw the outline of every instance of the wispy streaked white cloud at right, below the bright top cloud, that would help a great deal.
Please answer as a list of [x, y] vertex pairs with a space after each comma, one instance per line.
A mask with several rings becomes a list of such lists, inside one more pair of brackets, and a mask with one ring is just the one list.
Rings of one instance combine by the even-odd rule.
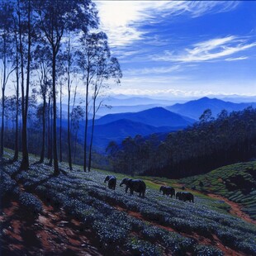
[[226, 36], [199, 42], [192, 45], [192, 48], [186, 48], [178, 53], [166, 50], [164, 55], [154, 55], [152, 59], [185, 63], [211, 61], [220, 59], [221, 57], [234, 55], [240, 51], [248, 50], [255, 46], [256, 42], [248, 43], [246, 40], [236, 36]]

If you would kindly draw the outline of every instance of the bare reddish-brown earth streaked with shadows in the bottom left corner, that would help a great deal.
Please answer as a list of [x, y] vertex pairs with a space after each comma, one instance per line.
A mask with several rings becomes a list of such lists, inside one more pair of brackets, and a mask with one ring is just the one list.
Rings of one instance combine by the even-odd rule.
[[91, 230], [61, 209], [45, 204], [43, 208], [42, 214], [32, 221], [25, 220], [17, 201], [2, 209], [3, 255], [102, 255], [91, 239]]

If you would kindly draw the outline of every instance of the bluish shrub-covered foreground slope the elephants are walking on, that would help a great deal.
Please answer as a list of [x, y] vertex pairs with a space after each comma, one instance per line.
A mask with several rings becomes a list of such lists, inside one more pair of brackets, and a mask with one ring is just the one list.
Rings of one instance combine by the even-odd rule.
[[[5, 156], [11, 158], [12, 151], [6, 151]], [[36, 160], [31, 157], [31, 163]], [[11, 175], [18, 165], [7, 164], [4, 172]], [[200, 237], [212, 240], [211, 235], [215, 235], [217, 242], [215, 239], [216, 243], [211, 245], [224, 244], [244, 254], [256, 253], [256, 227], [227, 214], [228, 206], [224, 201], [197, 192], [194, 192], [195, 204], [164, 197], [159, 193], [160, 185], [180, 187], [177, 181], [147, 177], [143, 177], [147, 184], [146, 198], [141, 199], [137, 195], [126, 195], [124, 187], [119, 187], [126, 175], [113, 173], [118, 180], [113, 192], [103, 183], [106, 174], [110, 173], [100, 170], [83, 173], [79, 166], [74, 166], [70, 173], [64, 163], [61, 168], [68, 175], [52, 177], [49, 166], [31, 164], [28, 172], [17, 175], [17, 182], [40, 200], [50, 201], [56, 211], [61, 206], [69, 215], [76, 216], [92, 229], [103, 247], [113, 244], [111, 249], [116, 249], [119, 244], [132, 254], [143, 252], [145, 255], [156, 255], [159, 250], [161, 255], [163, 251], [165, 254], [188, 251], [195, 255], [204, 255], [203, 252], [220, 255], [216, 249], [208, 247], [209, 242], [207, 245], [200, 242]], [[116, 207], [124, 211], [117, 211]], [[131, 211], [140, 218], [131, 217]], [[192, 239], [194, 237], [197, 239]]]

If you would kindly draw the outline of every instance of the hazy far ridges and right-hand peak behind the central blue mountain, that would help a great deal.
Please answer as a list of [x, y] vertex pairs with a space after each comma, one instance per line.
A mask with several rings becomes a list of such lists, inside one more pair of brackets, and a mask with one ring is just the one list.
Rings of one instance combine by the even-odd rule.
[[[102, 100], [102, 98], [99, 98], [99, 100]], [[254, 104], [255, 106], [255, 103], [251, 102], [256, 102], [256, 97], [242, 97], [238, 95], [231, 95], [225, 97], [223, 95], [220, 95], [220, 97], [218, 96], [218, 98], [215, 98], [214, 96], [202, 97], [200, 99], [193, 99], [187, 102], [185, 98], [168, 100], [151, 97], [132, 97], [119, 95], [116, 97], [107, 97], [106, 99], [104, 99], [102, 107], [100, 107], [100, 109], [97, 111], [96, 118], [106, 116], [108, 114], [138, 112], [145, 111], [154, 107], [164, 107], [169, 111], [173, 111], [183, 116], [189, 116], [192, 119], [198, 120], [199, 116], [201, 116], [202, 112], [206, 108], [210, 108], [211, 111], [213, 112], [213, 115], [216, 116], [216, 114], [218, 114], [223, 109], [223, 107], [227, 111], [239, 111], [244, 109], [244, 106], [248, 107], [251, 104]], [[66, 116], [67, 105], [63, 103], [63, 118], [67, 118]], [[91, 113], [89, 114], [89, 118], [92, 118]]]

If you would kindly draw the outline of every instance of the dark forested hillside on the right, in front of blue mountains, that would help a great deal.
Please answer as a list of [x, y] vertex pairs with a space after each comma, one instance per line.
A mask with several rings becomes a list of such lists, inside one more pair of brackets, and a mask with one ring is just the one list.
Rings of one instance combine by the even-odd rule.
[[107, 149], [117, 172], [180, 178], [254, 158], [255, 130], [256, 110], [251, 107], [221, 111], [216, 119], [206, 110], [199, 122], [162, 141], [137, 135], [121, 145], [111, 142]]

